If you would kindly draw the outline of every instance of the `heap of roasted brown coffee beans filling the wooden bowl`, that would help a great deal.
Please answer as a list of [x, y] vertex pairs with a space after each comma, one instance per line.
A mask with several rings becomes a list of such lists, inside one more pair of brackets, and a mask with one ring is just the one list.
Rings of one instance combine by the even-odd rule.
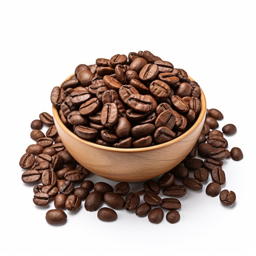
[[186, 71], [149, 51], [80, 64], [51, 102], [77, 136], [117, 148], [162, 144], [186, 132], [201, 110], [201, 90]]

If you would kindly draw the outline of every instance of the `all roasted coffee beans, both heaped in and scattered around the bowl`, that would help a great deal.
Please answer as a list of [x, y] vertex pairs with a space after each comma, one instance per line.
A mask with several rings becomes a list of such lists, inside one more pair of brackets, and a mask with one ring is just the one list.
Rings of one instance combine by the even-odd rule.
[[[74, 75], [60, 87], [54, 87], [51, 102], [58, 109], [63, 124], [79, 137], [97, 144], [130, 148], [161, 144], [188, 130], [201, 109], [200, 86], [182, 69], [174, 68], [151, 52], [117, 54], [99, 58], [94, 65], [80, 64]], [[31, 122], [30, 137], [35, 141], [20, 158], [22, 181], [33, 186], [33, 202], [44, 206], [51, 225], [67, 222], [68, 211], [78, 211], [83, 204], [88, 212], [97, 211], [102, 221], [114, 221], [120, 210], [148, 217], [152, 223], [165, 218], [180, 220], [181, 202], [188, 190], [205, 188], [207, 195], [219, 195], [230, 206], [236, 201], [234, 191], [222, 190], [226, 182], [224, 160], [239, 161], [242, 150], [228, 150], [226, 135], [234, 135], [236, 126], [227, 124], [218, 130], [222, 113], [207, 109], [202, 132], [191, 152], [175, 168], [139, 183], [132, 191], [127, 182], [114, 186], [86, 179], [93, 175], [70, 155], [63, 145], [52, 115], [42, 112]], [[46, 129], [43, 132], [43, 128]]]

